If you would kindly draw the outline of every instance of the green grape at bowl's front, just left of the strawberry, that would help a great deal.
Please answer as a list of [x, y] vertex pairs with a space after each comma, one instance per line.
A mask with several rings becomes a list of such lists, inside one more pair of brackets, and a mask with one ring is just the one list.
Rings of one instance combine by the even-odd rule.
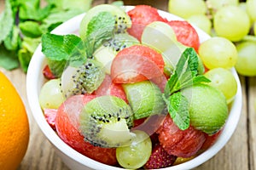
[[137, 169], [143, 167], [151, 155], [152, 143], [147, 133], [136, 130], [131, 145], [118, 147], [116, 158], [122, 167]]

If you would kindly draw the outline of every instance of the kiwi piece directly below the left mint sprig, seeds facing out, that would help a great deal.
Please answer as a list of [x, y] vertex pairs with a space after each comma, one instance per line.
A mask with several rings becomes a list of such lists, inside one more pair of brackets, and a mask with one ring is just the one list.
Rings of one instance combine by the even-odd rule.
[[67, 66], [61, 75], [61, 91], [66, 98], [76, 94], [91, 94], [104, 78], [103, 65], [95, 59], [87, 59], [84, 65]]

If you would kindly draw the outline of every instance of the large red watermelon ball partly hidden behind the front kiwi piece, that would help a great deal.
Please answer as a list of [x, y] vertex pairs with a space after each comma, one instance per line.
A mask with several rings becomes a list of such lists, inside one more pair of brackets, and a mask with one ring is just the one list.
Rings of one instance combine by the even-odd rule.
[[58, 109], [55, 126], [60, 138], [74, 150], [91, 159], [108, 165], [117, 164], [115, 149], [96, 147], [84, 141], [79, 133], [79, 112], [95, 95], [75, 95], [68, 98]]

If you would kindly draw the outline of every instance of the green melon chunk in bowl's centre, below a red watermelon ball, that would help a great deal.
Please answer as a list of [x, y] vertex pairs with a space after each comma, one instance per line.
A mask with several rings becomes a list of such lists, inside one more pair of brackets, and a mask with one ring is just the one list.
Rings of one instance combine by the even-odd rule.
[[135, 119], [161, 114], [165, 108], [160, 88], [153, 82], [123, 84], [126, 97]]

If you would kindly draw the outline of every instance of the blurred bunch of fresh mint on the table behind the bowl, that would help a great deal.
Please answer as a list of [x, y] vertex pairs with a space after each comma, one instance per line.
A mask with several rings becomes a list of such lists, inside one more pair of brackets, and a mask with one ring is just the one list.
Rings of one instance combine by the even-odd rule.
[[[34, 50], [26, 48], [38, 46], [42, 35], [52, 31], [73, 16], [86, 12], [92, 0], [5, 0], [5, 8], [0, 14], [0, 67], [13, 70], [21, 67], [24, 72]], [[31, 41], [26, 41], [32, 39]]]

